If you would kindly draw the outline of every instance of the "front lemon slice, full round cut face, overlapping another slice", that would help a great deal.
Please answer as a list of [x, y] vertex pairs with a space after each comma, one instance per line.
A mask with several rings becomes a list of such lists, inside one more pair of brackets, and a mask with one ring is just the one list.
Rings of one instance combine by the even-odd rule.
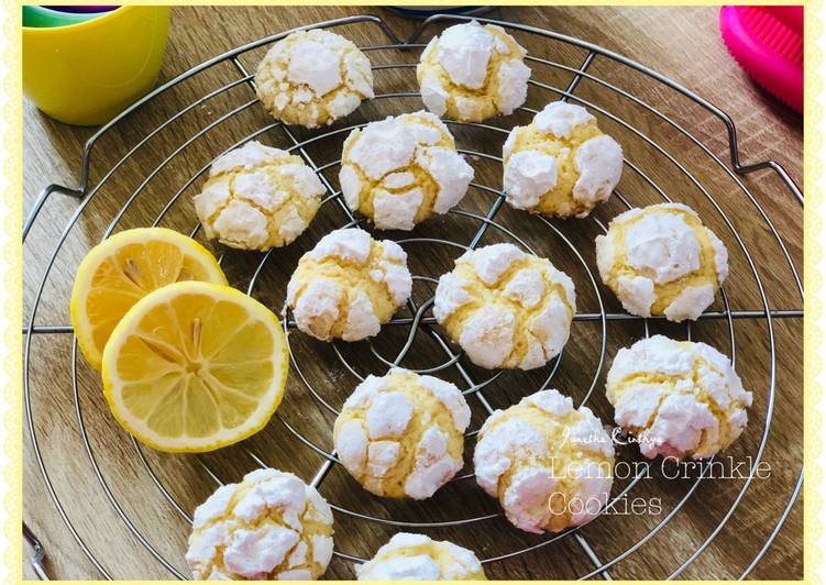
[[228, 286], [177, 283], [139, 300], [103, 350], [118, 422], [159, 451], [202, 452], [261, 430], [284, 395], [280, 322]]

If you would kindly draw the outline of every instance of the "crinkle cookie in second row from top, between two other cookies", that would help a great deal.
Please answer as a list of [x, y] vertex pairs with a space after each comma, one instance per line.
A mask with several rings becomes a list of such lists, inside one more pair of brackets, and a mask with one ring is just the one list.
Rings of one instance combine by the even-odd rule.
[[473, 168], [428, 112], [371, 122], [344, 142], [339, 181], [348, 207], [381, 230], [412, 230], [464, 197]]

